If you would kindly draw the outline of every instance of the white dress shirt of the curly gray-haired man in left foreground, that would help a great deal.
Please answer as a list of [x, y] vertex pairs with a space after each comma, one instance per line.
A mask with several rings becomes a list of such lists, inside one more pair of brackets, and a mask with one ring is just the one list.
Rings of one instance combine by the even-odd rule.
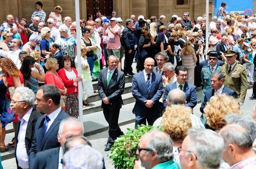
[[30, 108], [28, 112], [23, 116], [23, 118], [18, 116], [20, 120], [20, 129], [18, 131], [18, 143], [17, 143], [17, 150], [16, 150], [16, 158], [18, 161], [18, 166], [23, 169], [28, 169], [28, 154], [25, 146], [25, 136], [26, 130], [28, 126], [28, 120], [31, 115], [33, 108]]

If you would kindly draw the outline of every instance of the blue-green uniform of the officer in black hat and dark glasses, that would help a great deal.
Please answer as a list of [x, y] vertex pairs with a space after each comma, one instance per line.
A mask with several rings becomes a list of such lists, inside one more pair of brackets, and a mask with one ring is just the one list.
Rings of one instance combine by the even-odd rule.
[[[220, 71], [220, 66], [217, 65], [217, 67], [215, 68], [214, 72], [215, 71]], [[203, 82], [203, 85], [204, 85], [204, 90], [203, 90], [203, 93], [202, 93], [202, 99], [201, 99], [201, 102], [204, 101], [204, 94], [206, 92], [206, 90], [208, 90], [209, 88], [212, 87], [211, 85], [211, 75], [212, 75], [212, 72], [210, 70], [210, 65], [209, 66], [206, 66], [206, 67], [203, 67], [202, 68], [202, 71], [201, 71], [201, 79], [202, 79], [202, 82]]]

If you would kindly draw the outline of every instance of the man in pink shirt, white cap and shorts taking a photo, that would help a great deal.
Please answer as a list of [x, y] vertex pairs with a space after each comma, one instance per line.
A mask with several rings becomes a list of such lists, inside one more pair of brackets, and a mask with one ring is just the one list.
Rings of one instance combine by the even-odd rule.
[[117, 59], [117, 67], [121, 69], [120, 65], [120, 33], [121, 27], [116, 25], [116, 18], [111, 18], [110, 23], [104, 23], [103, 36], [107, 38], [107, 53], [108, 55], [114, 55]]

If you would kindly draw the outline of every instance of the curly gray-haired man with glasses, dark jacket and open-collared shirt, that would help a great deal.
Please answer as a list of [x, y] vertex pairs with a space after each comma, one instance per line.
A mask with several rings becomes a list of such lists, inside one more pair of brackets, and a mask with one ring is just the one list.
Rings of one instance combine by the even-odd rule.
[[32, 144], [35, 123], [41, 113], [33, 109], [35, 94], [27, 87], [18, 87], [11, 99], [10, 107], [18, 115], [17, 139], [15, 142], [15, 157], [17, 169], [28, 169], [28, 153]]

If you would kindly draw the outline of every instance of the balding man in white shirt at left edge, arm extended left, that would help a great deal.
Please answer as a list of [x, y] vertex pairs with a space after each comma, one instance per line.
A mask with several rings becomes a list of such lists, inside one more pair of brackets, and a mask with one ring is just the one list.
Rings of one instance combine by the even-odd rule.
[[[1, 44], [0, 44], [1, 45]], [[18, 59], [18, 54], [20, 53], [20, 47], [22, 46], [22, 41], [15, 38], [11, 40], [11, 49], [13, 51], [5, 51], [0, 49], [0, 56], [4, 58], [10, 58], [18, 69], [21, 67], [20, 60]]]

